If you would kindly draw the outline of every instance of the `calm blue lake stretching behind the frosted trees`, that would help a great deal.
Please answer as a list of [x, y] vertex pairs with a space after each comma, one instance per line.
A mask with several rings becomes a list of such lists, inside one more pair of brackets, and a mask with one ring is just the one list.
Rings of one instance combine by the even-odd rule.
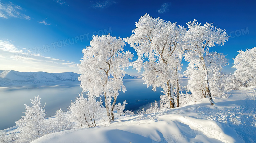
[[[142, 79], [123, 80], [126, 92], [120, 92], [117, 103], [127, 101], [125, 110], [136, 110], [149, 102], [160, 100], [161, 88], [152, 91], [152, 87], [146, 88]], [[182, 80], [185, 85], [187, 80]], [[30, 99], [38, 96], [41, 104], [45, 105], [46, 116], [55, 115], [56, 110], [61, 108], [67, 111], [71, 100], [75, 101], [82, 89], [80, 82], [60, 82], [24, 85], [22, 87], [0, 87], [0, 130], [15, 126], [15, 121], [25, 114], [25, 105], [31, 106]]]

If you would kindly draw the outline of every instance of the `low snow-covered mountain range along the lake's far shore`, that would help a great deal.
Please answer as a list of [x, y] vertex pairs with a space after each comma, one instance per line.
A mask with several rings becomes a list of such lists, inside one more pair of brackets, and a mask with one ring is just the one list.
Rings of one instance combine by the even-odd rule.
[[[0, 85], [18, 85], [49, 82], [79, 82], [80, 74], [73, 72], [47, 73], [47, 72], [18, 72], [14, 70], [0, 70]], [[124, 79], [134, 79], [139, 76], [125, 74]]]

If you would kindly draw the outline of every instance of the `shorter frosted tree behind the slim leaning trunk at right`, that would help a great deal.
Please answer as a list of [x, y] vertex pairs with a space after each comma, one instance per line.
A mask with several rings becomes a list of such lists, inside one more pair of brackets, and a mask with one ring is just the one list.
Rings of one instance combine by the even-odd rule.
[[[193, 51], [187, 52], [186, 56], [197, 54]], [[207, 67], [209, 87], [211, 89], [212, 97], [225, 96], [224, 92], [224, 74], [221, 72], [222, 68], [228, 64], [228, 59], [225, 55], [217, 52], [205, 52], [203, 55], [205, 66]], [[193, 60], [191, 60], [193, 61]], [[206, 98], [207, 86], [205, 83], [205, 71], [201, 61], [193, 61], [189, 63], [187, 70], [184, 71], [185, 75], [190, 78], [188, 81], [187, 89], [191, 91], [193, 100], [198, 101]]]

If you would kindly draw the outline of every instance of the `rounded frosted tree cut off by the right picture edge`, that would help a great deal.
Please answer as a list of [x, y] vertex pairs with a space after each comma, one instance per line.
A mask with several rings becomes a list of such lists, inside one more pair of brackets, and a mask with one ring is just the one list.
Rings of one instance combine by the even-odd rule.
[[256, 86], [256, 47], [238, 52], [233, 59], [232, 68], [236, 68], [234, 76], [244, 86]]

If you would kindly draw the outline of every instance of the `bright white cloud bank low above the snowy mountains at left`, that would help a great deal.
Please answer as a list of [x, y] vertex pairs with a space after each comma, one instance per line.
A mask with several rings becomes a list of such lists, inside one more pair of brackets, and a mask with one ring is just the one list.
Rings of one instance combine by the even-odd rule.
[[28, 56], [30, 49], [12, 43], [10, 40], [0, 40], [0, 70], [80, 73], [77, 63], [44, 57], [40, 53]]

